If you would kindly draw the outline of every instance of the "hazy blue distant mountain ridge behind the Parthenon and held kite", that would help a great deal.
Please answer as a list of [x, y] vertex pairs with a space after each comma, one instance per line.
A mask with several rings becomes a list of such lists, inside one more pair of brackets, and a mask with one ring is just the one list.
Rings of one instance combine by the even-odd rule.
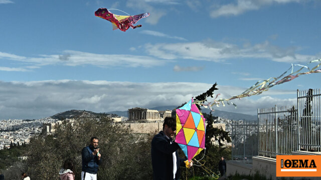
[[[157, 107], [152, 107], [152, 108], [148, 108], [148, 109], [173, 110], [176, 107], [177, 107], [176, 105], [168, 105], [168, 106], [157, 106]], [[211, 110], [207, 109], [207, 108], [202, 109], [202, 112], [204, 112], [204, 113], [210, 113], [210, 111]], [[128, 117], [127, 110], [125, 110], [125, 111], [110, 111], [110, 112], [106, 112], [106, 113], [115, 113], [120, 116]], [[212, 114], [214, 116], [219, 116], [219, 117], [227, 118], [227, 119], [231, 119], [231, 120], [256, 120], [257, 119], [256, 115], [249, 115], [249, 114], [243, 114], [243, 113], [237, 113], [237, 112], [228, 112], [228, 111], [224, 111], [224, 110], [215, 110], [214, 112], [212, 112]]]

